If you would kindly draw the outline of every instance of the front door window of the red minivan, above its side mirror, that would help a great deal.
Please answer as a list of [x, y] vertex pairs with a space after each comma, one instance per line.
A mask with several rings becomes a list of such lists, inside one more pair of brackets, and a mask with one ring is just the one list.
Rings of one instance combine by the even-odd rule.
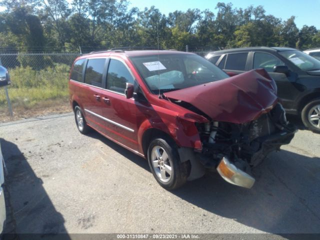
[[106, 89], [124, 93], [125, 83], [134, 83], [134, 79], [126, 66], [119, 60], [110, 59]]

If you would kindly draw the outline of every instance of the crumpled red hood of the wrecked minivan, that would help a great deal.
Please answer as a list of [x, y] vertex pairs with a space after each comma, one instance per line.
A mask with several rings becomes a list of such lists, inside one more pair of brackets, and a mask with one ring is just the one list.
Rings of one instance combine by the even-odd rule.
[[277, 102], [276, 84], [264, 69], [219, 81], [163, 93], [188, 102], [216, 121], [245, 123], [269, 111]]

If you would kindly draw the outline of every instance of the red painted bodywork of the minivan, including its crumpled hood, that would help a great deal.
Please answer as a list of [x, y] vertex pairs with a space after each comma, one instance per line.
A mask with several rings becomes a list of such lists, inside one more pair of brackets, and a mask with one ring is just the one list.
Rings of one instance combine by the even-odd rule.
[[[156, 53], [158, 51], [155, 51]], [[159, 51], [159, 54], [175, 54]], [[180, 54], [192, 54], [183, 53]], [[96, 116], [83, 112], [87, 123], [109, 139], [133, 152], [143, 155], [142, 139], [145, 132], [156, 129], [168, 134], [178, 146], [201, 149], [201, 141], [195, 122], [207, 122], [204, 116], [190, 111], [158, 95], [149, 92], [144, 81], [128, 59], [129, 55], [154, 54], [154, 51], [130, 51], [125, 53], [104, 52], [80, 56], [122, 59], [130, 68], [147, 101], [126, 99], [124, 95], [95, 86], [69, 81], [70, 103], [78, 104], [134, 130], [127, 131]], [[77, 60], [76, 59], [76, 60]], [[101, 96], [96, 100], [94, 94]], [[264, 70], [236, 75], [221, 81], [165, 93], [165, 96], [193, 104], [215, 120], [245, 122], [267, 111], [276, 102], [276, 86]], [[102, 101], [107, 97], [108, 102]]]

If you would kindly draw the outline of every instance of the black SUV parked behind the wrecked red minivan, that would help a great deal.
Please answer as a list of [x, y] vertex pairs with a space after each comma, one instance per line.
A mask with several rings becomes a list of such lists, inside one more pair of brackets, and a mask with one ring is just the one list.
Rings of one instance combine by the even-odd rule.
[[208, 53], [205, 58], [229, 75], [264, 68], [277, 84], [277, 94], [288, 114], [320, 133], [320, 61], [294, 48], [245, 47]]

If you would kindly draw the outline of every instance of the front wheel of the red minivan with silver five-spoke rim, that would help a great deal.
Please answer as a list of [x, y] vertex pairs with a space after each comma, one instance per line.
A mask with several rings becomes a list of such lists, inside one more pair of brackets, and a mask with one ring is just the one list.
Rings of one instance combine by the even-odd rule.
[[150, 170], [165, 189], [182, 186], [187, 178], [187, 162], [181, 162], [175, 142], [166, 136], [154, 138], [147, 150]]

